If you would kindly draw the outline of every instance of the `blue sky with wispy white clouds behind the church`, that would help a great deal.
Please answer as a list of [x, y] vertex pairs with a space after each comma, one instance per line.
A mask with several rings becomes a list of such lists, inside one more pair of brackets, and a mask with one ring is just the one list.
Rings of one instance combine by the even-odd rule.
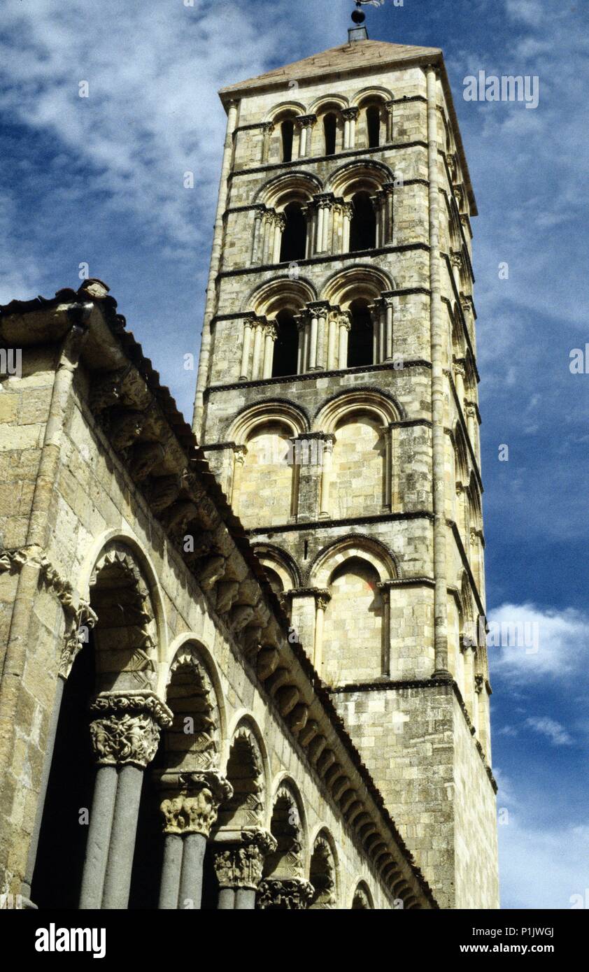
[[[343, 43], [352, 9], [6, 0], [0, 303], [78, 286], [87, 263], [190, 418], [194, 373], [183, 363], [197, 350], [225, 130], [216, 90]], [[508, 820], [502, 904], [566, 909], [579, 895], [589, 907], [589, 362], [587, 374], [569, 366], [572, 348], [589, 343], [587, 4], [385, 0], [366, 10], [373, 39], [444, 50], [480, 212], [489, 616], [537, 634], [537, 650], [490, 652]], [[537, 76], [537, 109], [464, 100], [464, 79], [479, 70]]]

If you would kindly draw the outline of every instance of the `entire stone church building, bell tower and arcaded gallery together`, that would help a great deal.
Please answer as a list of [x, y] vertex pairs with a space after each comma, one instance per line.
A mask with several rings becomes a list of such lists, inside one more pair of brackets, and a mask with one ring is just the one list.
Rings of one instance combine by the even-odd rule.
[[499, 906], [476, 207], [352, 34], [221, 92], [192, 430], [100, 281], [0, 312], [5, 907]]

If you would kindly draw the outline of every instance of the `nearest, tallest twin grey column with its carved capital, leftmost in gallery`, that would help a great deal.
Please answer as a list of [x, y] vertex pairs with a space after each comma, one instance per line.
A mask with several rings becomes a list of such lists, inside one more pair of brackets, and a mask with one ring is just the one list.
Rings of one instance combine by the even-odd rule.
[[87, 835], [80, 909], [125, 909], [143, 771], [172, 713], [150, 691], [101, 692], [90, 706], [98, 771]]

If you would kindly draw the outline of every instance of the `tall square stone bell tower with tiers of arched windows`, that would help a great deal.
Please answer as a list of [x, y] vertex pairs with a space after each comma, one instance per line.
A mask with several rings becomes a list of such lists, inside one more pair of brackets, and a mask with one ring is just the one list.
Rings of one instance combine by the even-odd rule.
[[498, 907], [470, 218], [442, 54], [225, 88], [194, 431], [446, 908]]

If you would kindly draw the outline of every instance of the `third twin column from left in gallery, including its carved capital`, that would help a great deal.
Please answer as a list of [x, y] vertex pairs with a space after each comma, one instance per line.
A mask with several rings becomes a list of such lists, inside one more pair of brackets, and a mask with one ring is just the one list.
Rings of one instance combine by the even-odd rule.
[[246, 827], [240, 834], [217, 835], [213, 861], [219, 881], [219, 909], [253, 911], [263, 862], [276, 851], [276, 841], [261, 827]]

